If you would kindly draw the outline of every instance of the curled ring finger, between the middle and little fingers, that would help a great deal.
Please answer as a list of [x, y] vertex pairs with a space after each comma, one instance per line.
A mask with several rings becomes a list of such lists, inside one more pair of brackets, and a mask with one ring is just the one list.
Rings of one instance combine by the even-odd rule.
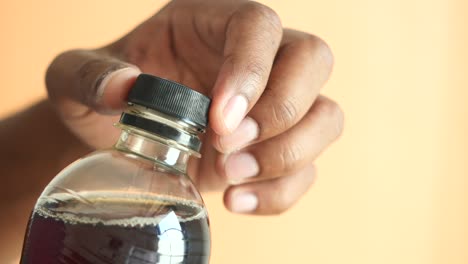
[[320, 154], [340, 134], [343, 112], [320, 96], [306, 116], [287, 133], [229, 155], [220, 154], [218, 173], [227, 182], [264, 180], [294, 174]]

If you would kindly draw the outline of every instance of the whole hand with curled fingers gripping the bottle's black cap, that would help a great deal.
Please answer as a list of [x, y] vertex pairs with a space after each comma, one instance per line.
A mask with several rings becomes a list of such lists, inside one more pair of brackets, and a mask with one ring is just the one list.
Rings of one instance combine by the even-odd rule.
[[231, 211], [275, 214], [306, 192], [313, 161], [341, 133], [340, 108], [319, 95], [332, 64], [322, 40], [283, 29], [266, 6], [178, 0], [115, 43], [59, 55], [46, 82], [67, 126], [96, 148], [116, 141], [112, 114], [140, 71], [211, 96], [190, 175], [202, 190], [225, 188]]

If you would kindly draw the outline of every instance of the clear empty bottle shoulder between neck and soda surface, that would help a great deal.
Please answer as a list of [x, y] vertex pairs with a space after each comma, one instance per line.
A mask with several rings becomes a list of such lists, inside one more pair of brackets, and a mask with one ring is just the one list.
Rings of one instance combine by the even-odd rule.
[[186, 174], [115, 149], [95, 151], [73, 162], [50, 182], [41, 196], [62, 192], [155, 194], [203, 203]]

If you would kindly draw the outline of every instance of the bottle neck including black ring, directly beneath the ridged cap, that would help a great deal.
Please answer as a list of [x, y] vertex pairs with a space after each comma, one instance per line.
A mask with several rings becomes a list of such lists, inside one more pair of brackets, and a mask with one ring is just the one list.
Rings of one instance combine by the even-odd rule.
[[142, 107], [129, 105], [116, 124], [122, 129], [114, 147], [182, 173], [190, 156], [200, 157], [200, 128], [186, 121]]

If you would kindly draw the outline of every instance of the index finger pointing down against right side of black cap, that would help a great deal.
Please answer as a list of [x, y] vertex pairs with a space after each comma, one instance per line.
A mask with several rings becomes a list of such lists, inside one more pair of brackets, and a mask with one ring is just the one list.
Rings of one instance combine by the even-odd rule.
[[211, 127], [218, 135], [232, 133], [262, 94], [283, 27], [272, 9], [247, 2], [232, 14], [225, 34], [224, 61], [210, 110]]

